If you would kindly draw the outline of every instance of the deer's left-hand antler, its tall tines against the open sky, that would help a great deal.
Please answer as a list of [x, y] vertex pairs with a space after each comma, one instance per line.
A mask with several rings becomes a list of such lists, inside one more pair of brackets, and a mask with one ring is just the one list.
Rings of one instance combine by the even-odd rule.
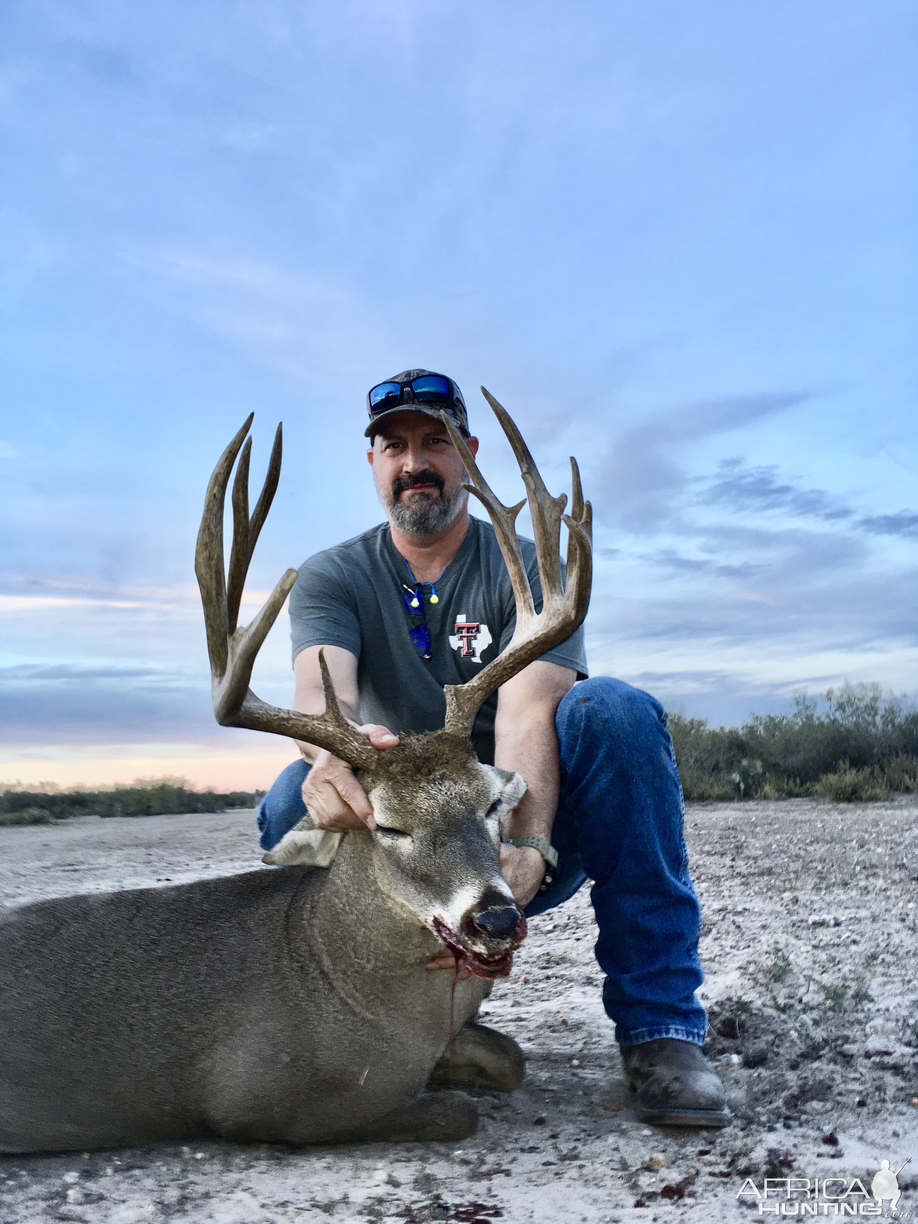
[[248, 518], [251, 438], [245, 443], [239, 460], [233, 486], [233, 551], [226, 580], [223, 559], [223, 508], [226, 485], [253, 416], [253, 412], [248, 415], [214, 468], [211, 483], [207, 486], [204, 513], [195, 551], [195, 573], [201, 588], [207, 650], [211, 656], [214, 716], [224, 727], [247, 727], [250, 731], [271, 731], [275, 736], [302, 739], [326, 748], [349, 765], [373, 769], [379, 754], [341, 715], [323, 651], [319, 651], [318, 661], [322, 668], [322, 687], [326, 692], [326, 712], [318, 717], [268, 705], [248, 688], [255, 656], [296, 581], [296, 570], [288, 569], [252, 623], [244, 628], [237, 627], [239, 605], [248, 564], [280, 476], [282, 427], [278, 425], [268, 475], [251, 519]]

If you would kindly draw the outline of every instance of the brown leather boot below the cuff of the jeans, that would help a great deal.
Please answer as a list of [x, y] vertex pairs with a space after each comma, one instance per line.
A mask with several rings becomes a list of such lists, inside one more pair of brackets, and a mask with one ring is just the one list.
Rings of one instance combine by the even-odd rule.
[[723, 1084], [698, 1045], [660, 1037], [622, 1045], [624, 1082], [643, 1122], [657, 1126], [726, 1126]]

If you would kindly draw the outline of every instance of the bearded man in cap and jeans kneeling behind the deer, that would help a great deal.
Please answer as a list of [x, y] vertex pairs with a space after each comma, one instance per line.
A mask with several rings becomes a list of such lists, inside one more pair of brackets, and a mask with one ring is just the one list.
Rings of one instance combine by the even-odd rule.
[[[513, 635], [515, 607], [491, 524], [469, 517], [465, 470], [439, 415], [476, 454], [457, 384], [408, 370], [373, 387], [367, 406], [367, 459], [388, 521], [300, 569], [290, 595], [293, 707], [324, 709], [324, 647], [341, 711], [386, 749], [398, 732], [442, 727], [443, 685], [464, 683], [496, 657]], [[523, 548], [540, 607], [535, 547]], [[485, 703], [472, 742], [482, 761], [528, 783], [501, 847], [526, 916], [595, 881], [603, 1004], [640, 1116], [726, 1125], [722, 1086], [700, 1049], [700, 913], [662, 707], [621, 681], [586, 679], [579, 629]], [[275, 846], [305, 810], [318, 829], [376, 827], [351, 770], [299, 747], [302, 759], [259, 805], [261, 845]], [[428, 968], [454, 969], [452, 955]]]

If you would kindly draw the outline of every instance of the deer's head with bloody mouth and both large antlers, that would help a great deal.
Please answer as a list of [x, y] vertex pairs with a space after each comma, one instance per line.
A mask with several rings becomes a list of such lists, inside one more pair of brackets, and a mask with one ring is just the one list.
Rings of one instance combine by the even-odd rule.
[[[494, 525], [513, 585], [517, 627], [507, 649], [474, 679], [446, 688], [447, 717], [442, 731], [401, 736], [395, 748], [372, 747], [341, 715], [322, 652], [326, 712], [308, 716], [262, 701], [248, 688], [258, 649], [296, 581], [288, 569], [251, 622], [240, 628], [239, 606], [258, 532], [267, 518], [280, 474], [282, 431], [278, 426], [268, 475], [248, 518], [250, 416], [223, 453], [207, 490], [198, 532], [195, 569], [204, 607], [211, 656], [213, 706], [223, 726], [271, 731], [306, 741], [333, 753], [357, 774], [373, 805], [373, 832], [337, 835], [372, 838], [372, 863], [382, 892], [412, 919], [430, 928], [472, 973], [499, 977], [509, 972], [513, 950], [526, 925], [501, 874], [501, 818], [519, 802], [525, 782], [482, 765], [471, 747], [471, 728], [481, 704], [510, 677], [559, 645], [586, 616], [591, 579], [591, 510], [584, 502], [574, 459], [573, 503], [546, 490], [517, 426], [483, 388], [520, 466], [526, 486], [542, 608], [535, 611], [515, 520], [525, 501], [506, 507], [493, 494], [464, 438], [443, 415], [454, 446], [469, 472], [469, 492], [479, 497]], [[224, 577], [223, 509], [236, 455], [241, 458], [233, 487], [233, 551]], [[567, 581], [561, 570], [561, 524], [568, 529]], [[266, 856], [277, 864], [315, 864], [315, 830], [308, 818]]]

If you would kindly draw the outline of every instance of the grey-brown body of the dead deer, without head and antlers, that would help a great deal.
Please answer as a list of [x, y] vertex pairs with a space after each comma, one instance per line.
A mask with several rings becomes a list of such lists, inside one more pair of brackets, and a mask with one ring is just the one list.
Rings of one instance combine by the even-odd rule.
[[[442, 945], [370, 856], [348, 836], [329, 870], [10, 912], [0, 1149], [335, 1142], [408, 1105], [449, 1042], [453, 977], [425, 968]], [[455, 1031], [486, 991], [455, 983]]]

